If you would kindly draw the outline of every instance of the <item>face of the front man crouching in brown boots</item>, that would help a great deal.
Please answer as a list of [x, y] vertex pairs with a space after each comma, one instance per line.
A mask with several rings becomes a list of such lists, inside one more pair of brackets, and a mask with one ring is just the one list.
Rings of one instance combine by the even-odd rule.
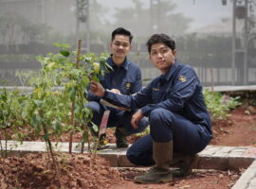
[[151, 46], [150, 60], [155, 67], [166, 74], [174, 64], [176, 51], [164, 43], [155, 43]]

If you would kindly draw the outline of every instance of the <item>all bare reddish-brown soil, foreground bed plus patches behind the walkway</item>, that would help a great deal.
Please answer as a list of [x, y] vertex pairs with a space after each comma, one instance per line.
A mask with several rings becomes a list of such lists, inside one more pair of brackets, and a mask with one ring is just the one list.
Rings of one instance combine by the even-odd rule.
[[[115, 143], [113, 129], [108, 129], [109, 143]], [[213, 126], [213, 140], [210, 145], [217, 146], [255, 146], [256, 115], [244, 108], [231, 112], [229, 120]], [[246, 137], [245, 137], [246, 136]], [[62, 141], [67, 141], [64, 135]], [[0, 133], [0, 138], [1, 133]], [[132, 143], [137, 137], [129, 137]], [[74, 142], [81, 140], [75, 134]], [[186, 178], [174, 179], [171, 183], [137, 184], [134, 177], [146, 171], [146, 168], [111, 168], [109, 164], [97, 157], [92, 166], [88, 155], [77, 154], [60, 156], [61, 182], [63, 188], [109, 188], [109, 189], [187, 189], [208, 188], [228, 189], [239, 179], [244, 170], [218, 171], [193, 170]], [[27, 154], [24, 157], [0, 159], [0, 188], [60, 188], [52, 164], [46, 154]]]

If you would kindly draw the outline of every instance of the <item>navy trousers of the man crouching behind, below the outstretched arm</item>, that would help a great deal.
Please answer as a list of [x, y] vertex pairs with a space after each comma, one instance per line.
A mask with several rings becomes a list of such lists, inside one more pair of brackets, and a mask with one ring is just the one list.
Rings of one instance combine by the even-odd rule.
[[136, 111], [132, 111], [132, 112], [119, 111], [117, 109], [112, 109], [112, 108], [103, 106], [96, 101], [90, 101], [85, 106], [88, 108], [91, 108], [93, 112], [92, 122], [98, 126], [100, 126], [101, 124], [101, 118], [104, 111], [110, 110], [107, 127], [108, 128], [117, 127], [126, 136], [141, 132], [144, 129], [146, 129], [148, 126], [147, 118], [143, 118], [139, 122], [137, 129], [134, 129], [132, 127], [131, 118]]

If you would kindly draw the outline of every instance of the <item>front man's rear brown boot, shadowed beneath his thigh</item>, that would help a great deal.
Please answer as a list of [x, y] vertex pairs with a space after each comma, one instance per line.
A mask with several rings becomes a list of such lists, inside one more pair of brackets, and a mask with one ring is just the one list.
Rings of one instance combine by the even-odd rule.
[[173, 177], [186, 177], [192, 173], [192, 166], [198, 160], [197, 154], [174, 153], [171, 166], [177, 166], [178, 169], [172, 171]]

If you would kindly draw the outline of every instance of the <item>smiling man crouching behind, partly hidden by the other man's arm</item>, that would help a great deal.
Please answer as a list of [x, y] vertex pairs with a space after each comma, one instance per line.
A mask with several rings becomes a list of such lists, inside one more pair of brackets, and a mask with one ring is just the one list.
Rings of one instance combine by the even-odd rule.
[[[133, 35], [125, 28], [119, 27], [112, 32], [110, 43], [111, 55], [106, 60], [113, 70], [105, 73], [101, 77], [101, 85], [108, 90], [118, 94], [136, 94], [142, 88], [141, 70], [137, 64], [127, 59], [127, 54], [132, 48]], [[93, 112], [93, 123], [97, 126], [101, 124], [103, 112], [110, 110], [107, 127], [116, 127], [116, 144], [118, 147], [127, 147], [126, 136], [143, 131], [147, 126], [147, 119], [143, 119], [137, 129], [131, 126], [131, 118], [136, 111], [120, 111], [115, 108], [101, 104], [101, 97], [88, 93], [90, 107]], [[97, 133], [96, 133], [97, 134]], [[104, 137], [104, 136], [103, 136]], [[101, 137], [101, 145], [102, 144]]]

